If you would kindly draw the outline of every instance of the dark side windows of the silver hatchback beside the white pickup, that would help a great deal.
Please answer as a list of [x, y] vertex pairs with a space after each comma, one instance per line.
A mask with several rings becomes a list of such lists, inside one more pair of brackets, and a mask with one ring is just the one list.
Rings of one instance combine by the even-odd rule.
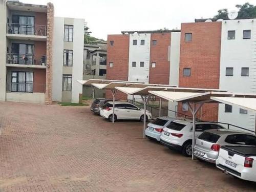
[[244, 144], [244, 145], [255, 145], [256, 137], [248, 134], [233, 134], [228, 135], [225, 142], [230, 144]]

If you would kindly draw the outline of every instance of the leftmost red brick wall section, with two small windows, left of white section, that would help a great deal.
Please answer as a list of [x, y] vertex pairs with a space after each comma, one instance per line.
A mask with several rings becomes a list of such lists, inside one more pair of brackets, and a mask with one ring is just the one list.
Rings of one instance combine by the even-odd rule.
[[[114, 40], [114, 46], [110, 46], [111, 40]], [[108, 35], [107, 55], [106, 79], [128, 80], [129, 35]], [[110, 62], [113, 62], [113, 68], [109, 67]], [[106, 98], [112, 98], [110, 91], [106, 91]], [[116, 98], [126, 100], [127, 95], [117, 92]]]

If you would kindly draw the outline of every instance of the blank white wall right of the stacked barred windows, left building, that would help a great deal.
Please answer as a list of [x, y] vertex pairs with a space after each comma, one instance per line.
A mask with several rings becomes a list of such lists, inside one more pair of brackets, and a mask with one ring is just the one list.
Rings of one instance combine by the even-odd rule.
[[78, 103], [82, 85], [77, 82], [83, 77], [84, 19], [74, 19], [72, 102]]

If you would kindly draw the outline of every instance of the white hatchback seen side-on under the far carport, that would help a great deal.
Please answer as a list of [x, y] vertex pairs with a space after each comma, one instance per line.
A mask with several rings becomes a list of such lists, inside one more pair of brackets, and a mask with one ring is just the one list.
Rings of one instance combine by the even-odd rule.
[[[105, 119], [112, 121], [113, 115], [113, 102], [106, 102], [100, 109], [100, 115]], [[117, 119], [138, 119], [141, 122], [144, 120], [144, 110], [138, 108], [129, 102], [117, 101], [115, 102], [115, 116], [114, 121]], [[152, 114], [146, 110], [146, 120], [152, 119]]]

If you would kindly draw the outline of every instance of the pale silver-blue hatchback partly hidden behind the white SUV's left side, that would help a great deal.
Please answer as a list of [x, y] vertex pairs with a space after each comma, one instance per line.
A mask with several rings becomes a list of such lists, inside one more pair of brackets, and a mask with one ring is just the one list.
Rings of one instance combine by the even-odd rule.
[[155, 120], [147, 124], [147, 128], [145, 130], [146, 137], [149, 139], [160, 141], [160, 136], [163, 131], [163, 128], [175, 119], [177, 118], [166, 116], [156, 118]]

